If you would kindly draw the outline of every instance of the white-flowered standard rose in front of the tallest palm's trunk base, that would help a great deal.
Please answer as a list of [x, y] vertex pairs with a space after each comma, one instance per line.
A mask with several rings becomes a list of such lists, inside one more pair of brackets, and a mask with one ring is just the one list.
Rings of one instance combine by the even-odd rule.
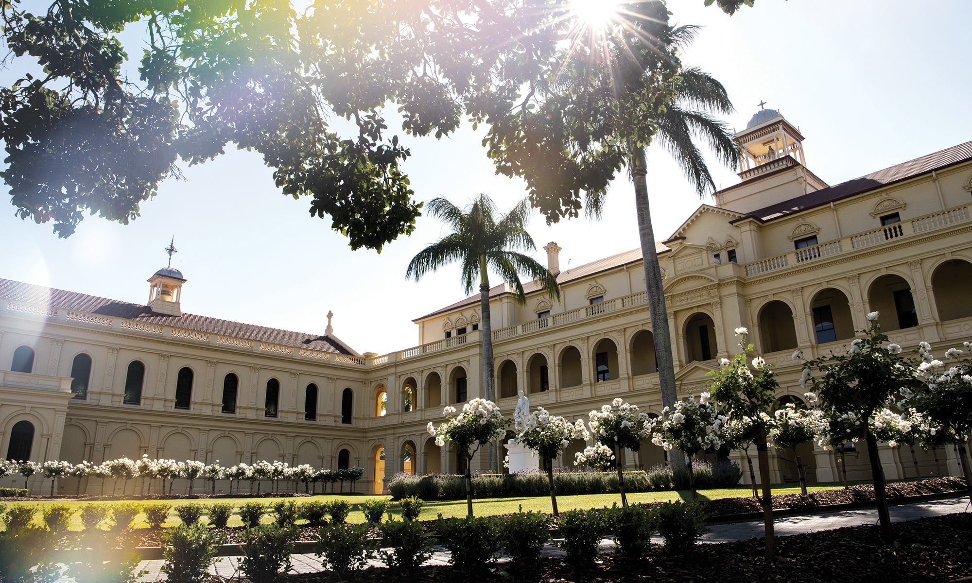
[[[709, 394], [704, 393], [700, 402], [695, 396], [679, 400], [670, 411], [662, 409], [662, 416], [651, 422], [651, 442], [670, 452], [678, 449], [688, 458], [688, 483], [692, 488], [692, 499], [698, 499], [695, 490], [695, 473], [692, 471], [692, 458], [707, 449], [722, 446], [720, 432], [726, 422], [722, 415], [709, 403]], [[707, 401], [707, 402], [701, 402]]]

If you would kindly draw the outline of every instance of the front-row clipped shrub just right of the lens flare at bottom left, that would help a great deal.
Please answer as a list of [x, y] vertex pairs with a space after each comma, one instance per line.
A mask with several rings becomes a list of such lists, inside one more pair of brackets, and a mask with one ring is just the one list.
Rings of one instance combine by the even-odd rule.
[[209, 566], [219, 558], [216, 545], [222, 542], [213, 531], [195, 524], [179, 525], [162, 533], [161, 571], [169, 581], [204, 583], [211, 578]]

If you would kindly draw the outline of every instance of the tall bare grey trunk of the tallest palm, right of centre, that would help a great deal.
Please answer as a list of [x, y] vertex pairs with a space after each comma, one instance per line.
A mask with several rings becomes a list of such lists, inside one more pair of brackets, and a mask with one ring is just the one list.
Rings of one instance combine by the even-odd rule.
[[[635, 206], [638, 211], [638, 234], [642, 243], [644, 287], [648, 292], [648, 312], [651, 317], [651, 335], [655, 340], [655, 362], [658, 364], [658, 384], [662, 389], [662, 405], [674, 407], [677, 400], [675, 386], [675, 355], [672, 354], [672, 332], [668, 327], [668, 309], [665, 307], [665, 290], [662, 287], [661, 268], [655, 251], [655, 232], [651, 227], [651, 210], [648, 207], [647, 160], [644, 149], [635, 148], [631, 155], [631, 177], [635, 183]], [[673, 471], [685, 468], [685, 455], [673, 449], [669, 452]]]

